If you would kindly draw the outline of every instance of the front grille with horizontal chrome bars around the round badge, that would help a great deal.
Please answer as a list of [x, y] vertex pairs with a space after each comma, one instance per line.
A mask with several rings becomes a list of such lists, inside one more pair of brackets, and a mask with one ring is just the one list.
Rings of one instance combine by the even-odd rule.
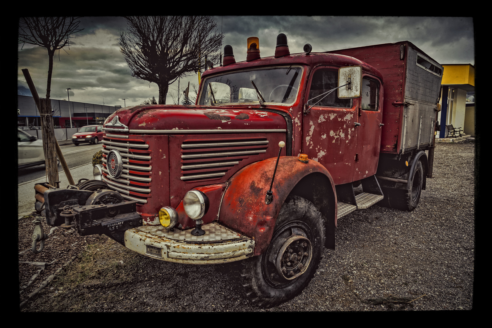
[[[103, 144], [103, 181], [129, 200], [147, 203], [151, 193], [152, 156], [149, 145], [138, 136], [106, 134]], [[116, 149], [123, 160], [123, 173], [115, 179], [108, 174], [107, 155]]]

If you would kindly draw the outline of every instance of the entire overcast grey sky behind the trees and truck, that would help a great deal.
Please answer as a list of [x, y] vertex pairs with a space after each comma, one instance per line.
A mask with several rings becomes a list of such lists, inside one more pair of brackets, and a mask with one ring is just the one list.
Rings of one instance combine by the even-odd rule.
[[[246, 39], [259, 38], [261, 57], [273, 56], [278, 33], [285, 33], [291, 54], [302, 53], [306, 43], [313, 52], [397, 41], [410, 41], [441, 64], [475, 64], [471, 17], [357, 17], [357, 16], [215, 16], [224, 32], [223, 47], [232, 45], [236, 61], [246, 60]], [[70, 48], [54, 58], [51, 98], [94, 104], [141, 104], [154, 96], [154, 83], [133, 78], [118, 46], [123, 17], [82, 17]], [[18, 87], [27, 88], [21, 69], [28, 68], [40, 97], [45, 97], [48, 55], [45, 48], [19, 44]], [[180, 86], [198, 83], [197, 76], [182, 79]], [[176, 85], [176, 86], [175, 86]], [[177, 89], [177, 82], [170, 93]], [[24, 88], [23, 88], [24, 87]], [[25, 89], [24, 89], [25, 90]], [[166, 104], [173, 99], [168, 93]], [[123, 101], [123, 98], [126, 100]]]

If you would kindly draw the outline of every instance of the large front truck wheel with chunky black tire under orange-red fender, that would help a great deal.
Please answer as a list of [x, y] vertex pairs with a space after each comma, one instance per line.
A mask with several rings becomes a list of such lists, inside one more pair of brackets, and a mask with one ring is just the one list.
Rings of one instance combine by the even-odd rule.
[[268, 249], [236, 264], [246, 296], [262, 306], [275, 306], [301, 293], [323, 254], [325, 224], [320, 211], [302, 197], [282, 205]]

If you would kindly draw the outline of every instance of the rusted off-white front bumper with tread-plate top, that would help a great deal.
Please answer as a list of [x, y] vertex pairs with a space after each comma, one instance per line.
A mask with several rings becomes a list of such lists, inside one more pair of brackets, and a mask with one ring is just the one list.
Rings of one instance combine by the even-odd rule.
[[141, 226], [125, 231], [124, 245], [158, 260], [186, 264], [234, 262], [253, 255], [254, 239], [218, 223], [202, 229], [205, 235], [193, 236], [191, 230], [166, 232], [160, 226]]

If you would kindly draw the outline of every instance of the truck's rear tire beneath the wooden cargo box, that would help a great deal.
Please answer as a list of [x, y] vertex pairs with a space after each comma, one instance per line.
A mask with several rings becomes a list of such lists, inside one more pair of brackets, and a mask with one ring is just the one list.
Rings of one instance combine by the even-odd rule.
[[385, 203], [381, 205], [408, 211], [415, 209], [419, 204], [424, 183], [424, 168], [420, 160], [415, 164], [413, 172], [410, 172], [408, 182], [406, 189], [381, 188], [385, 195]]

